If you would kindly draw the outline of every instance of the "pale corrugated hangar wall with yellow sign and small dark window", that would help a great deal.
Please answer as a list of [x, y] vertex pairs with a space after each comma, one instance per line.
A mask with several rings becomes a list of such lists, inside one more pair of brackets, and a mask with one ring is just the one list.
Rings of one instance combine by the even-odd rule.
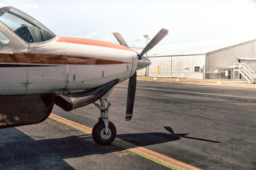
[[[204, 78], [205, 55], [181, 55], [148, 57], [152, 64], [148, 67], [148, 76]], [[195, 72], [195, 67], [200, 72]], [[138, 71], [138, 75], [145, 74], [146, 69]]]

